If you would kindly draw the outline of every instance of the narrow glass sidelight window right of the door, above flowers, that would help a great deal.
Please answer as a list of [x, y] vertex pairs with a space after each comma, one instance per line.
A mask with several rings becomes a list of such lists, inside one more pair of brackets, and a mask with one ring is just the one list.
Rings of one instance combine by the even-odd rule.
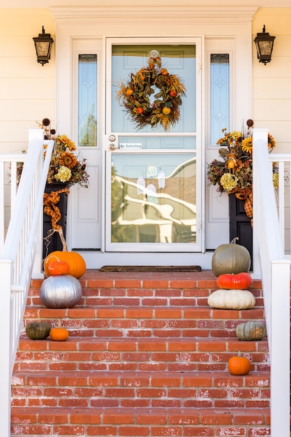
[[222, 138], [221, 131], [230, 129], [230, 56], [211, 54], [210, 67], [210, 126], [211, 146]]

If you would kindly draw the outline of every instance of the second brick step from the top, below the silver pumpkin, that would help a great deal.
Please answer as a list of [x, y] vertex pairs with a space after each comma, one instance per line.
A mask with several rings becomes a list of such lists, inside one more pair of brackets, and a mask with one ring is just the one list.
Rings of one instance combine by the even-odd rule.
[[[263, 308], [248, 310], [200, 307], [74, 307], [48, 309], [27, 307], [24, 325], [47, 320], [52, 326], [61, 319], [70, 336], [88, 337], [227, 337], [235, 338], [235, 328], [247, 320], [264, 320]], [[22, 332], [22, 337], [25, 332]]]

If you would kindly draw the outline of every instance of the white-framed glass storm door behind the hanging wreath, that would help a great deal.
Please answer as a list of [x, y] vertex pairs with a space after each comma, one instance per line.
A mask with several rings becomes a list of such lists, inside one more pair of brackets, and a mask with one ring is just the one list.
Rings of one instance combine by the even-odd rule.
[[[138, 128], [117, 100], [153, 51], [186, 87], [169, 131]], [[200, 38], [107, 39], [106, 251], [202, 251], [200, 53]]]

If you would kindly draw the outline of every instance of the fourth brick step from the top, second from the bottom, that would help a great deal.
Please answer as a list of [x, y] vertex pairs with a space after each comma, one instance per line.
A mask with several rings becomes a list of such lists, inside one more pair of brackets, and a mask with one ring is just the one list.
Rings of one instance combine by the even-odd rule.
[[267, 408], [269, 373], [15, 372], [13, 406]]

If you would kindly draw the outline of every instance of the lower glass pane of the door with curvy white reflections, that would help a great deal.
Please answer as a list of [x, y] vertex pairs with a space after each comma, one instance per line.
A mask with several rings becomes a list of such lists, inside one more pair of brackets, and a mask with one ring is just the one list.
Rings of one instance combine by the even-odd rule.
[[113, 243], [196, 242], [193, 154], [112, 154]]

